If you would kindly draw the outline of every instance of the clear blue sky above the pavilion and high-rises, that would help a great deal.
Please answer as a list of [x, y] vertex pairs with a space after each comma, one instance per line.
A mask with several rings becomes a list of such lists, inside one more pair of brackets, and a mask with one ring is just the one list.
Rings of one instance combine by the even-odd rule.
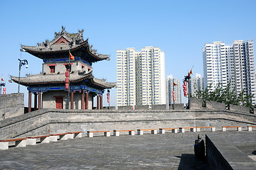
[[[21, 45], [52, 40], [65, 26], [68, 33], [84, 29], [84, 38], [99, 53], [111, 55], [110, 61], [93, 64], [96, 78], [116, 81], [116, 50], [146, 46], [165, 51], [166, 76], [182, 80], [193, 65], [194, 74], [203, 76], [205, 42], [255, 40], [255, 6], [253, 0], [0, 1], [0, 74], [6, 93], [17, 93], [18, 84], [8, 80], [9, 75], [18, 76], [18, 58], [28, 60], [28, 69], [21, 68], [22, 77], [40, 73], [43, 63], [21, 54]], [[27, 98], [26, 87], [21, 86], [21, 92]], [[111, 90], [111, 105], [116, 106], [116, 89]]]

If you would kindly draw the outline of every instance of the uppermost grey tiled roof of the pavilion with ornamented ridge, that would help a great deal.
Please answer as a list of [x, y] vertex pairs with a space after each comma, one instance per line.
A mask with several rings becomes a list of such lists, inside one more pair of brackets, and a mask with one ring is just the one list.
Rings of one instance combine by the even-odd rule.
[[84, 30], [79, 30], [79, 33], [69, 34], [62, 27], [60, 33], [55, 33], [55, 38], [50, 42], [45, 40], [43, 43], [38, 43], [38, 46], [21, 45], [23, 50], [39, 57], [40, 59], [48, 58], [53, 53], [65, 54], [68, 56], [69, 51], [77, 57], [84, 57], [88, 62], [98, 62], [100, 60], [109, 60], [109, 55], [101, 55], [92, 50], [92, 45], [89, 45], [88, 39], [83, 38]]

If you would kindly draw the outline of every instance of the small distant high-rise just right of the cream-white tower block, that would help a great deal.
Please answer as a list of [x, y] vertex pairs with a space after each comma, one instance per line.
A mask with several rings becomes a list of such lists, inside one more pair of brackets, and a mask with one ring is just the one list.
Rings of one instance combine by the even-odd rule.
[[[177, 84], [174, 86], [174, 84]], [[182, 103], [182, 95], [181, 95], [181, 84], [179, 79], [174, 79], [171, 75], [167, 76], [167, 102], [169, 104], [178, 104]], [[174, 91], [174, 96], [175, 96], [175, 101], [173, 100], [173, 92]]]

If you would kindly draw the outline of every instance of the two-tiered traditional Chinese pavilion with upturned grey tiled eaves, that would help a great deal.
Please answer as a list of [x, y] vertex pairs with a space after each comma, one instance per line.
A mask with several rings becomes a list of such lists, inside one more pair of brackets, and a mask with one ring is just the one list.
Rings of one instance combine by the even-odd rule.
[[[104, 89], [111, 89], [116, 83], [96, 79], [92, 74], [92, 63], [109, 60], [92, 50], [84, 30], [67, 33], [62, 27], [51, 41], [45, 40], [38, 46], [21, 45], [22, 49], [43, 60], [43, 72], [27, 77], [13, 77], [16, 83], [28, 87], [28, 112], [31, 111], [31, 95], [34, 94], [34, 108], [93, 109], [97, 96], [97, 109], [102, 109]], [[70, 60], [70, 54], [74, 57]], [[67, 89], [67, 72], [69, 87]], [[69, 91], [69, 93], [68, 93]], [[69, 97], [69, 98], [68, 98]], [[69, 101], [69, 104], [67, 102]]]

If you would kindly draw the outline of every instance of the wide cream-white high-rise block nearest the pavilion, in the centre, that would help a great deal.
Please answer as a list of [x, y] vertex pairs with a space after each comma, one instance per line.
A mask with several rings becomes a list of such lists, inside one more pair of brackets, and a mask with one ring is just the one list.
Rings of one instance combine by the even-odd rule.
[[116, 50], [117, 106], [166, 104], [165, 52], [159, 47]]

